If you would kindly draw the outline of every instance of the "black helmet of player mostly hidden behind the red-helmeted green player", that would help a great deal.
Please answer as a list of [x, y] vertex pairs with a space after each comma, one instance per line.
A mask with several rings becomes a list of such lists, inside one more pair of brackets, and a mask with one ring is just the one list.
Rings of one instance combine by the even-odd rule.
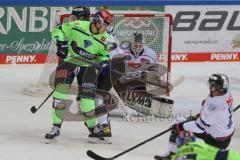
[[72, 9], [72, 15], [77, 16], [79, 19], [83, 17], [83, 20], [90, 20], [90, 8], [87, 6], [77, 6]]

